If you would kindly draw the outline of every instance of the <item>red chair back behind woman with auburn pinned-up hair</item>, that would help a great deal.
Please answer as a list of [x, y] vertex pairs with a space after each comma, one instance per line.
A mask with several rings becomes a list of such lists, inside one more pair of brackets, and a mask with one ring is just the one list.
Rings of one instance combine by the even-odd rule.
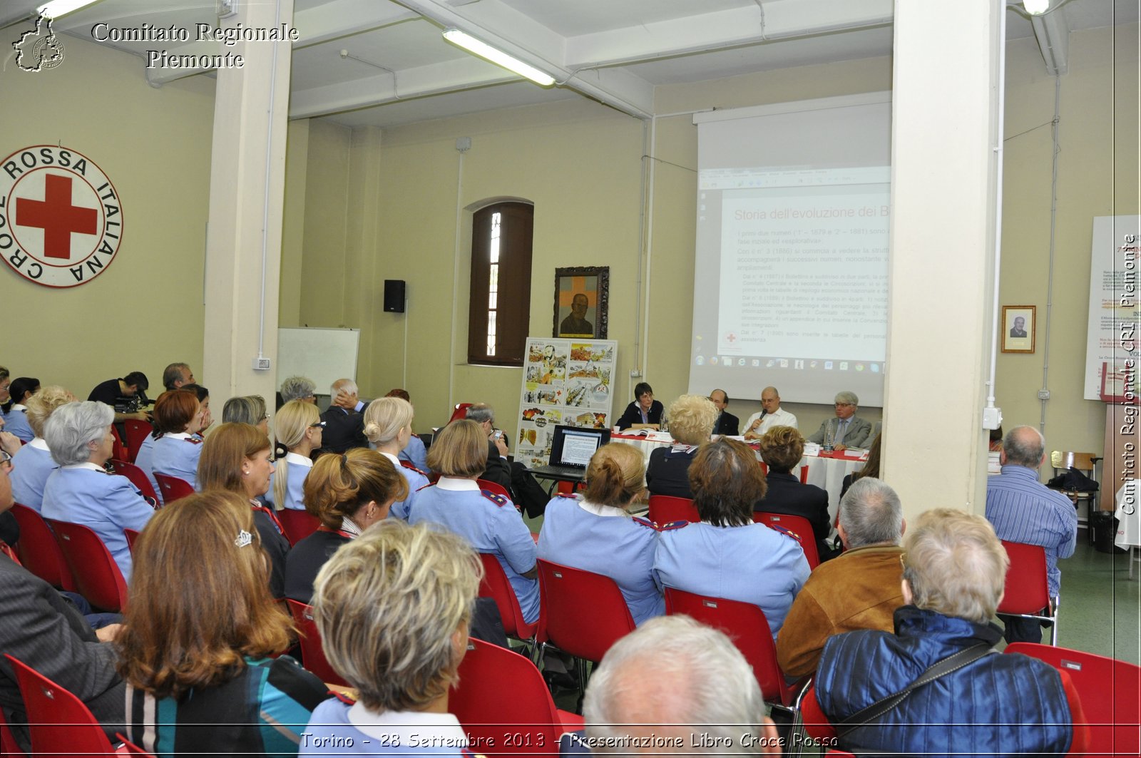
[[597, 663], [634, 630], [622, 590], [609, 576], [540, 558], [539, 587], [539, 627], [544, 639], [566, 653]]

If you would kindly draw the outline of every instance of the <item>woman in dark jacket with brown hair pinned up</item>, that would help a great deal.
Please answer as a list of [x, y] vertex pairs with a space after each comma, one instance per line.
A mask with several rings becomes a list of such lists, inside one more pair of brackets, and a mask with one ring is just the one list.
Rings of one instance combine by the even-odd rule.
[[305, 509], [321, 519], [321, 526], [289, 551], [285, 597], [308, 605], [313, 581], [329, 557], [388, 516], [393, 502], [407, 492], [396, 468], [380, 453], [362, 447], [317, 459], [305, 479]]

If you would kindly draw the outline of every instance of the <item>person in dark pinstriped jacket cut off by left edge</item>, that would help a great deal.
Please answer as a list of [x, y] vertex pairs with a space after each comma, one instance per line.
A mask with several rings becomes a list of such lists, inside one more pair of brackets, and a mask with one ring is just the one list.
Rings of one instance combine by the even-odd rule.
[[[0, 513], [13, 505], [8, 467], [0, 466]], [[0, 651], [26, 663], [83, 701], [108, 739], [123, 727], [123, 683], [111, 639], [119, 624], [92, 631], [54, 587], [0, 551]], [[0, 708], [19, 747], [32, 755], [16, 675], [0, 655]]]

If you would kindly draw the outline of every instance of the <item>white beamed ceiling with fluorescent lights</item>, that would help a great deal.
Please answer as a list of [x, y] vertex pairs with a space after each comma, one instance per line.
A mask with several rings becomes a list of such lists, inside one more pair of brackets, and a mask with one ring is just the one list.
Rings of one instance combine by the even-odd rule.
[[[34, 16], [40, 2], [6, 0], [0, 27]], [[1138, 21], [1135, 0], [1053, 2], [1060, 7], [1052, 22], [1063, 37], [1067, 29]], [[892, 6], [892, 0], [294, 0], [301, 39], [293, 50], [290, 116], [393, 127], [589, 97], [646, 118], [654, 113], [656, 86], [890, 55]], [[1006, 11], [1008, 39], [1035, 35], [1019, 9], [1015, 3]], [[99, 0], [57, 19], [55, 31], [91, 40], [98, 22], [217, 25], [213, 0]], [[440, 34], [448, 26], [549, 72], [557, 83], [539, 87], [452, 46]], [[155, 47], [106, 45], [140, 58]], [[220, 46], [163, 47], [179, 55], [218, 53]], [[212, 74], [145, 70], [140, 59], [139, 75], [162, 86]]]

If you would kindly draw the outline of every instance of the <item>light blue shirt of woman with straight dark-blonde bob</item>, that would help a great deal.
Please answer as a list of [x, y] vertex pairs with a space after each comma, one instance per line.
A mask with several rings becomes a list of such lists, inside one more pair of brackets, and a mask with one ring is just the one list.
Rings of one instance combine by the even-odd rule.
[[443, 476], [416, 493], [408, 523], [414, 526], [420, 522], [439, 524], [468, 540], [478, 553], [494, 555], [511, 581], [523, 620], [539, 620], [539, 580], [523, 576], [535, 567], [535, 540], [510, 500], [480, 492], [472, 479]]

